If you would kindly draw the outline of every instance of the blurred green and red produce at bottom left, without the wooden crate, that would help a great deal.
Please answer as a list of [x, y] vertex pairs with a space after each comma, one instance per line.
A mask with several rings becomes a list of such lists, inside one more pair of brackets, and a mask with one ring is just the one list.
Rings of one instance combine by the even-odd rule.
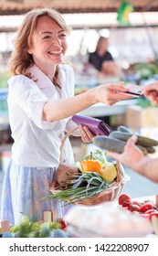
[[4, 232], [3, 238], [68, 238], [65, 231], [66, 222], [63, 219], [47, 221], [39, 224], [30, 221], [26, 215], [22, 215], [19, 223]]

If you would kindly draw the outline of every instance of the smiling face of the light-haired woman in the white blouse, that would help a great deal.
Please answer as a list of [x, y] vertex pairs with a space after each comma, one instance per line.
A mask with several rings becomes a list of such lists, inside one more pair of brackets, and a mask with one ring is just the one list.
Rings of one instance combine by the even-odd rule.
[[37, 28], [32, 36], [32, 46], [27, 52], [45, 74], [61, 63], [67, 49], [66, 37], [66, 32], [53, 19], [48, 16], [38, 18]]

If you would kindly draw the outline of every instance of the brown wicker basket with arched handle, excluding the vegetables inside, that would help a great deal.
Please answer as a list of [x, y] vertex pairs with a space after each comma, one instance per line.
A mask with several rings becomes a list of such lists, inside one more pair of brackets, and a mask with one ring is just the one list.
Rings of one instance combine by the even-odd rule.
[[[67, 133], [61, 143], [60, 146], [60, 163], [62, 163], [62, 152], [63, 152], [63, 146], [65, 141], [67, 140], [68, 136], [73, 133], [74, 131], [76, 131], [78, 128], [75, 128], [73, 131]], [[124, 186], [124, 184], [130, 180], [130, 176], [126, 175], [124, 173], [124, 169], [123, 166], [121, 165], [120, 162], [115, 161], [116, 164], [116, 168], [117, 168], [117, 177], [116, 177], [116, 181], [113, 182], [111, 184], [110, 187], [106, 188], [105, 190], [103, 190], [102, 192], [100, 192], [99, 194], [92, 196], [92, 197], [88, 197], [86, 199], [80, 200], [78, 203], [75, 204], [81, 204], [81, 205], [98, 205], [102, 202], [105, 201], [112, 201], [114, 200], [116, 197], [118, 197], [121, 193], [121, 190]], [[62, 164], [61, 164], [62, 165]], [[123, 174], [123, 176], [122, 176]], [[50, 192], [52, 194], [57, 193], [59, 190], [56, 189], [55, 187], [56, 181], [53, 182], [50, 186]]]

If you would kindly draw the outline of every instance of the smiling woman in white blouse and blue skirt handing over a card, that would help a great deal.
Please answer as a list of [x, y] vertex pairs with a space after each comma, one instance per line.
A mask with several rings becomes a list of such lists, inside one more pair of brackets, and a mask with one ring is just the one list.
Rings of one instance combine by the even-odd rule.
[[[20, 212], [41, 220], [44, 210], [56, 208], [62, 217], [66, 208], [41, 198], [50, 194], [56, 178], [64, 134], [76, 125], [70, 117], [97, 102], [112, 105], [130, 98], [119, 93], [128, 91], [121, 84], [100, 85], [74, 97], [73, 70], [62, 64], [68, 33], [62, 16], [48, 8], [27, 13], [17, 33], [7, 100], [14, 144], [1, 211], [10, 225], [19, 221]], [[85, 143], [93, 136], [87, 127], [80, 127], [79, 134]], [[64, 161], [73, 163], [69, 141], [63, 151]]]

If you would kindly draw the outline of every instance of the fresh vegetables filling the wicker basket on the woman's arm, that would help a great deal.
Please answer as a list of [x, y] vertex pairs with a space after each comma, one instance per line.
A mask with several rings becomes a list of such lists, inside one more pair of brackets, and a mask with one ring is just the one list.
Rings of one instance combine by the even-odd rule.
[[[73, 172], [69, 173], [68, 169], [65, 172], [64, 168], [64, 176], [61, 167], [62, 179], [59, 182], [57, 180], [54, 182], [54, 187], [51, 188], [52, 195], [44, 197], [42, 200], [59, 199], [66, 204], [82, 203], [85, 199], [100, 195], [102, 191], [108, 192], [107, 189], [116, 184], [119, 175], [117, 163], [115, 161], [108, 162], [105, 153], [100, 150], [84, 155], [79, 162], [76, 162], [76, 167], [72, 167]], [[75, 172], [76, 168], [78, 172]], [[125, 174], [121, 165], [120, 169], [120, 176], [124, 178]], [[66, 185], [63, 186], [63, 183]]]

